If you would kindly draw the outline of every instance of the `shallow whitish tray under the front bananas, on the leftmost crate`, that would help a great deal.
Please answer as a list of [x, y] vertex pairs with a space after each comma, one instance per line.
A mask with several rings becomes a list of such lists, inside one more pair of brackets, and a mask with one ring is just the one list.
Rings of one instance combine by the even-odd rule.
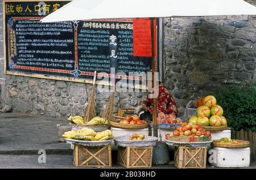
[[68, 144], [77, 144], [84, 146], [104, 146], [112, 144], [113, 139], [105, 140], [105, 141], [83, 141], [83, 140], [75, 140], [75, 139], [65, 139]]

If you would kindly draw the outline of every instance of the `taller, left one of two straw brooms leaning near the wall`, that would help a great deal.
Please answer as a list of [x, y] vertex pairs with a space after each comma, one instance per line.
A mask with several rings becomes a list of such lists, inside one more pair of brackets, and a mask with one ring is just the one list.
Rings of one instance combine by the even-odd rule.
[[84, 112], [84, 121], [89, 121], [96, 117], [96, 103], [95, 103], [95, 91], [96, 91], [96, 71], [94, 72], [94, 78], [93, 78], [93, 89], [92, 93], [90, 94], [90, 98], [88, 101], [88, 105], [85, 107]]

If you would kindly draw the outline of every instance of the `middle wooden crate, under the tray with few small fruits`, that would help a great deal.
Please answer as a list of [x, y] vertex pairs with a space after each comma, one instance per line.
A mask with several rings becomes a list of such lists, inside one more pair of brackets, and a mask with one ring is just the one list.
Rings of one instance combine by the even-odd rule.
[[117, 163], [125, 168], [152, 168], [153, 147], [118, 146]]

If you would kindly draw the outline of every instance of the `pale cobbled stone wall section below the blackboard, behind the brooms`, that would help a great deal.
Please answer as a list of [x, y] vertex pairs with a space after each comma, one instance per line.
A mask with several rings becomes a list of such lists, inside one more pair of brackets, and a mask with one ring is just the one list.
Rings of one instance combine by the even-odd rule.
[[[13, 111], [47, 114], [52, 116], [81, 115], [90, 97], [92, 85], [48, 79], [7, 76], [6, 102]], [[96, 91], [97, 112], [102, 112], [110, 93]], [[145, 93], [115, 93], [114, 111], [119, 107], [132, 107]]]

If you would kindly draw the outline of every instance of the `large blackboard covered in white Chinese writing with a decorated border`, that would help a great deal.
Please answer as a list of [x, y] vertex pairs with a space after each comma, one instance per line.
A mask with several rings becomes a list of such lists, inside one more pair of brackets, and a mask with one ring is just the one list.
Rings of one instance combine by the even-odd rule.
[[109, 85], [151, 69], [151, 57], [133, 55], [133, 19], [39, 22], [68, 2], [4, 2], [6, 74], [91, 83], [96, 70]]

